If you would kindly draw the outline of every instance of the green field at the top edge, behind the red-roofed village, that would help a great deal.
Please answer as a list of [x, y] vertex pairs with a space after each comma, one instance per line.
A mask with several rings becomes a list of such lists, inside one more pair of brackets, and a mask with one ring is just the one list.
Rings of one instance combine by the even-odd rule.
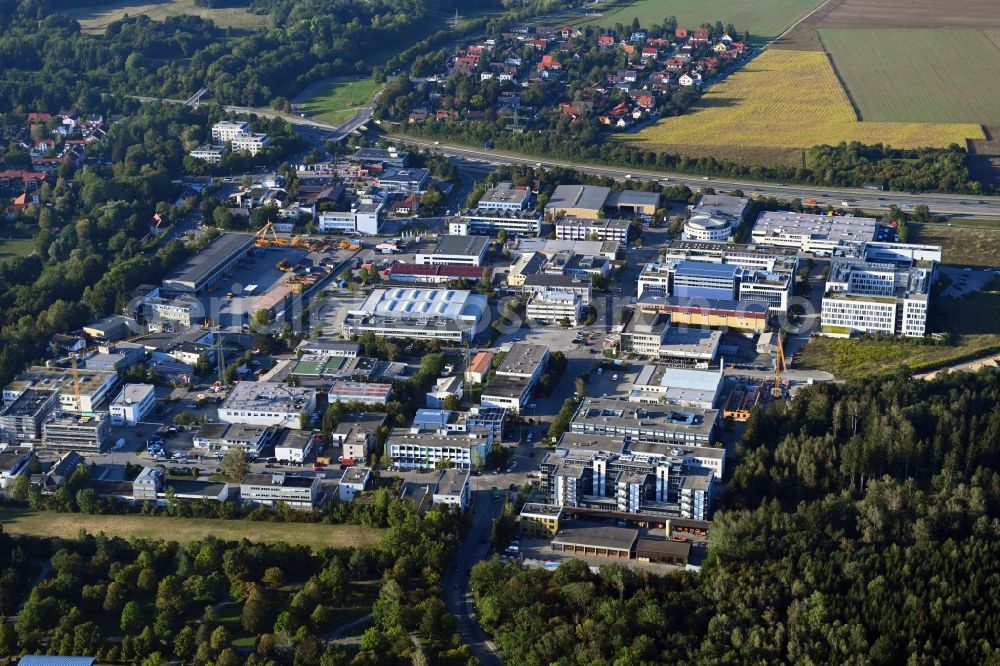
[[740, 32], [754, 38], [771, 39], [811, 12], [823, 0], [626, 0], [586, 21], [603, 26], [616, 23], [631, 25], [633, 17], [643, 26], [663, 23], [676, 16], [681, 27], [695, 28], [702, 23], [732, 23]]

